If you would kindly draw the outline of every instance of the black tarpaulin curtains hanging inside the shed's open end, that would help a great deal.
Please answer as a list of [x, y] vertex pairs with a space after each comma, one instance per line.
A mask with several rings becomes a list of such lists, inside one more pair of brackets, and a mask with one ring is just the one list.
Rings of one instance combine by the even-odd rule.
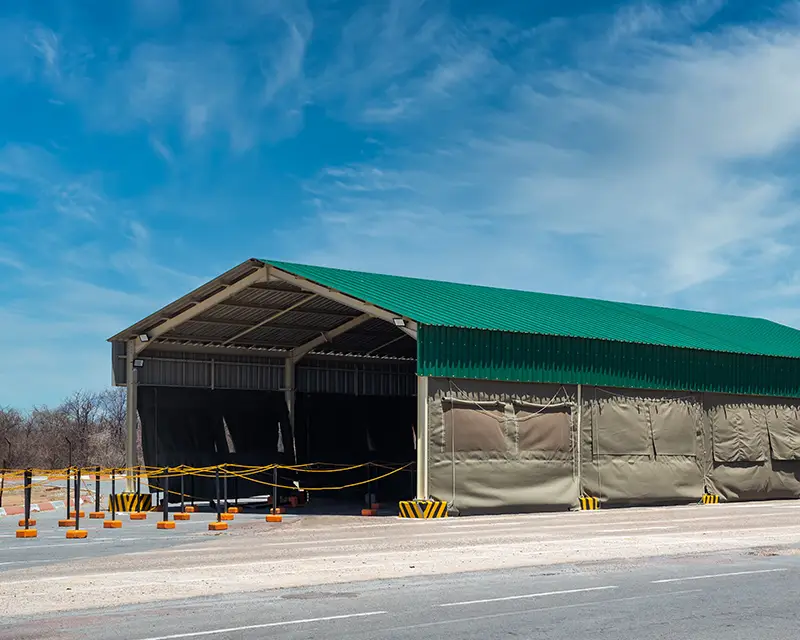
[[[142, 448], [148, 466], [207, 467], [222, 463], [265, 466], [294, 464], [292, 433], [281, 392], [140, 387], [139, 417]], [[354, 465], [368, 461], [405, 464], [415, 459], [413, 428], [414, 398], [298, 394], [295, 437], [298, 462]], [[224, 419], [224, 423], [223, 423]], [[227, 425], [235, 453], [228, 451]], [[278, 450], [281, 430], [284, 452]], [[372, 475], [388, 469], [375, 467]], [[335, 474], [292, 474], [281, 471], [281, 484], [292, 480], [310, 486], [340, 486], [364, 480], [366, 468]], [[381, 482], [384, 499], [408, 497], [412, 473], [404, 471]], [[259, 475], [271, 481], [272, 474]], [[157, 485], [157, 482], [152, 484]], [[190, 487], [193, 486], [193, 489]], [[170, 483], [172, 491], [178, 483]], [[186, 478], [185, 488], [197, 498], [215, 495], [213, 479]], [[373, 488], [373, 491], [375, 488]], [[228, 480], [229, 498], [270, 493], [265, 485], [246, 480]], [[329, 497], [356, 497], [366, 487], [323, 492]], [[380, 497], [380, 496], [379, 496]], [[171, 500], [179, 498], [171, 496]]]

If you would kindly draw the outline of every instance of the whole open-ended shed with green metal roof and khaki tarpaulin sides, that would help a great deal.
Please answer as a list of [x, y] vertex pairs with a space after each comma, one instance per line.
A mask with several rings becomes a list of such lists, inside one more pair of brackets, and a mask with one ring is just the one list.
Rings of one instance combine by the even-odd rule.
[[129, 466], [135, 408], [149, 465], [415, 461], [460, 512], [800, 496], [767, 320], [253, 259], [110, 340]]

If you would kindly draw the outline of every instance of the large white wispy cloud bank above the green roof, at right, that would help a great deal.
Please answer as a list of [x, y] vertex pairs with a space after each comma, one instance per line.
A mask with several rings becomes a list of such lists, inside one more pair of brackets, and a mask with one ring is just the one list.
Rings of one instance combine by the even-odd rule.
[[[504, 60], [515, 73], [495, 105], [453, 95], [479, 108], [480, 128], [441, 122], [429, 143], [323, 172], [309, 190], [328, 249], [308, 255], [385, 270], [404, 253], [404, 272], [756, 311], [756, 292], [733, 283], [763, 286], [798, 262], [800, 209], [779, 161], [800, 133], [800, 24], [683, 37], [719, 7], [626, 9], [569, 67]], [[417, 95], [418, 79], [386, 81]]]

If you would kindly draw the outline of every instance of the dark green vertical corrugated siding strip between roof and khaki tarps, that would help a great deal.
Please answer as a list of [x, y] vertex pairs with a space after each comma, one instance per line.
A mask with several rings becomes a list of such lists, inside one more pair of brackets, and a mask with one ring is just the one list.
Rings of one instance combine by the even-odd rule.
[[800, 397], [800, 360], [579, 338], [420, 326], [435, 377]]

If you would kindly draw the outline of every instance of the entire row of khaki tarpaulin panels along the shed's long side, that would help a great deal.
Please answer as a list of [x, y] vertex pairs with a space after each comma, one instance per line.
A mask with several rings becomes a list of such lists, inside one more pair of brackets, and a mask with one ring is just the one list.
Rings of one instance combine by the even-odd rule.
[[[429, 487], [463, 512], [800, 497], [800, 400], [429, 382]], [[580, 423], [580, 439], [578, 425]]]

